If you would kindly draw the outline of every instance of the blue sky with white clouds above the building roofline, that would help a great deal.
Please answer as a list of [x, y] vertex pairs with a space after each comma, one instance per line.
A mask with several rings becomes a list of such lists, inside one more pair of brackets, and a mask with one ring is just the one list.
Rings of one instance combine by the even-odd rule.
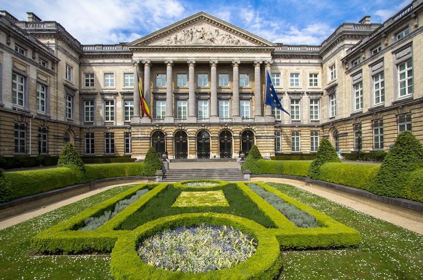
[[131, 42], [199, 11], [274, 43], [319, 45], [343, 22], [383, 23], [412, 0], [0, 0], [18, 19], [32, 11], [82, 44]]

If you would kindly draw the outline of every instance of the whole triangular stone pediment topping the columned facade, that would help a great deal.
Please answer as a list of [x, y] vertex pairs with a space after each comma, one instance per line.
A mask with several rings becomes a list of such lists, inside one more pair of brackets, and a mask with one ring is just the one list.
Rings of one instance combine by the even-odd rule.
[[239, 27], [199, 12], [128, 44], [137, 47], [275, 47]]

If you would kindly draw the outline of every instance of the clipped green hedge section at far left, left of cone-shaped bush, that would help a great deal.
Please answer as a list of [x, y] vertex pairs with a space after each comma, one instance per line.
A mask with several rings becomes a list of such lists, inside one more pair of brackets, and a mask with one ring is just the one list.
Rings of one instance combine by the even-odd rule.
[[3, 176], [10, 191], [8, 195], [0, 193], [2, 202], [56, 188], [82, 184], [85, 181], [85, 176], [81, 171], [67, 167], [5, 172]]

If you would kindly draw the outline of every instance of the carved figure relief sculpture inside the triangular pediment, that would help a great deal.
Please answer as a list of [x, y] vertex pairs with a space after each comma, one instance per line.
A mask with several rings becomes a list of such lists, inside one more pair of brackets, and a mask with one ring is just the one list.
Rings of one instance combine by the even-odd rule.
[[246, 45], [237, 36], [209, 25], [193, 26], [158, 42], [158, 45]]

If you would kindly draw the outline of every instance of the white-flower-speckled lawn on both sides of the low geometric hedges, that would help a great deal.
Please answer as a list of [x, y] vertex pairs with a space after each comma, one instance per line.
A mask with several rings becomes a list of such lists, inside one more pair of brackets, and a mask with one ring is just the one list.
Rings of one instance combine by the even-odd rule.
[[[358, 230], [355, 249], [283, 252], [279, 279], [423, 279], [423, 236], [307, 191], [268, 183]], [[33, 256], [32, 236], [131, 186], [115, 187], [0, 231], [1, 279], [111, 279], [107, 256]]]

